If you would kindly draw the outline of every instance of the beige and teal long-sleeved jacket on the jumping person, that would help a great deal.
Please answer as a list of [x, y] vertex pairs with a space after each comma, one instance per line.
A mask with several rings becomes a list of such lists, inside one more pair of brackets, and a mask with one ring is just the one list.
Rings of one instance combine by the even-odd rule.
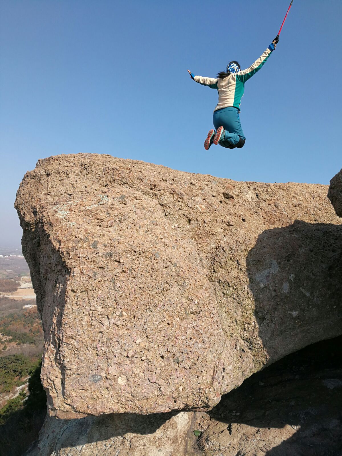
[[218, 89], [218, 104], [214, 112], [223, 108], [240, 109], [241, 98], [244, 95], [244, 83], [249, 80], [259, 69], [264, 65], [269, 58], [271, 51], [267, 48], [266, 51], [256, 60], [249, 68], [238, 73], [231, 73], [226, 78], [203, 78], [195, 76], [194, 80], [197, 83], [207, 85], [210, 88]]

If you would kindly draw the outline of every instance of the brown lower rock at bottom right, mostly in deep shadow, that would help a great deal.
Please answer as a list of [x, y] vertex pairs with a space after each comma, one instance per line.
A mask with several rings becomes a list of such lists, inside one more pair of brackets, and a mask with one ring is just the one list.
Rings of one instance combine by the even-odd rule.
[[286, 356], [223, 396], [199, 438], [205, 456], [342, 451], [342, 337]]

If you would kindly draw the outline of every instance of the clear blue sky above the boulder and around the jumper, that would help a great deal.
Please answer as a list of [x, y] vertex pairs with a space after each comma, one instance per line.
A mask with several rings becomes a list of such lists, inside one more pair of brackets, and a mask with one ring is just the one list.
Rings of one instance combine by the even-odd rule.
[[27, 170], [106, 153], [243, 181], [327, 184], [341, 160], [341, 0], [294, 0], [247, 84], [241, 150], [203, 148], [229, 60], [248, 67], [289, 0], [0, 0], [0, 246], [18, 245]]

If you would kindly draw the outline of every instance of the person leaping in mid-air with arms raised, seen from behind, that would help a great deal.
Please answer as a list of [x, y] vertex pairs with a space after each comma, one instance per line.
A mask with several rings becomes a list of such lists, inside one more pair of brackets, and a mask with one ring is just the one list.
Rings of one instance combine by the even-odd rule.
[[276, 41], [274, 40], [266, 51], [246, 70], [241, 70], [236, 61], [229, 62], [227, 70], [218, 73], [218, 77], [203, 78], [194, 76], [187, 70], [191, 78], [202, 85], [218, 90], [218, 104], [214, 109], [212, 123], [215, 130], [209, 130], [207, 139], [204, 141], [206, 150], [214, 144], [222, 145], [228, 149], [243, 147], [246, 141], [240, 123], [240, 104], [244, 94], [244, 84], [264, 65], [271, 52], [275, 50]]

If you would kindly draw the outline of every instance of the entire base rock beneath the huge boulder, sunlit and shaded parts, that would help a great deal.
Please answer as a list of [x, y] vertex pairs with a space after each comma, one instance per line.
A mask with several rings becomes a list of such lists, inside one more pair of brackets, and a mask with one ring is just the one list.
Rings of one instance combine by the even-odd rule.
[[340, 455], [341, 343], [338, 337], [288, 355], [209, 413], [47, 416], [26, 456]]

